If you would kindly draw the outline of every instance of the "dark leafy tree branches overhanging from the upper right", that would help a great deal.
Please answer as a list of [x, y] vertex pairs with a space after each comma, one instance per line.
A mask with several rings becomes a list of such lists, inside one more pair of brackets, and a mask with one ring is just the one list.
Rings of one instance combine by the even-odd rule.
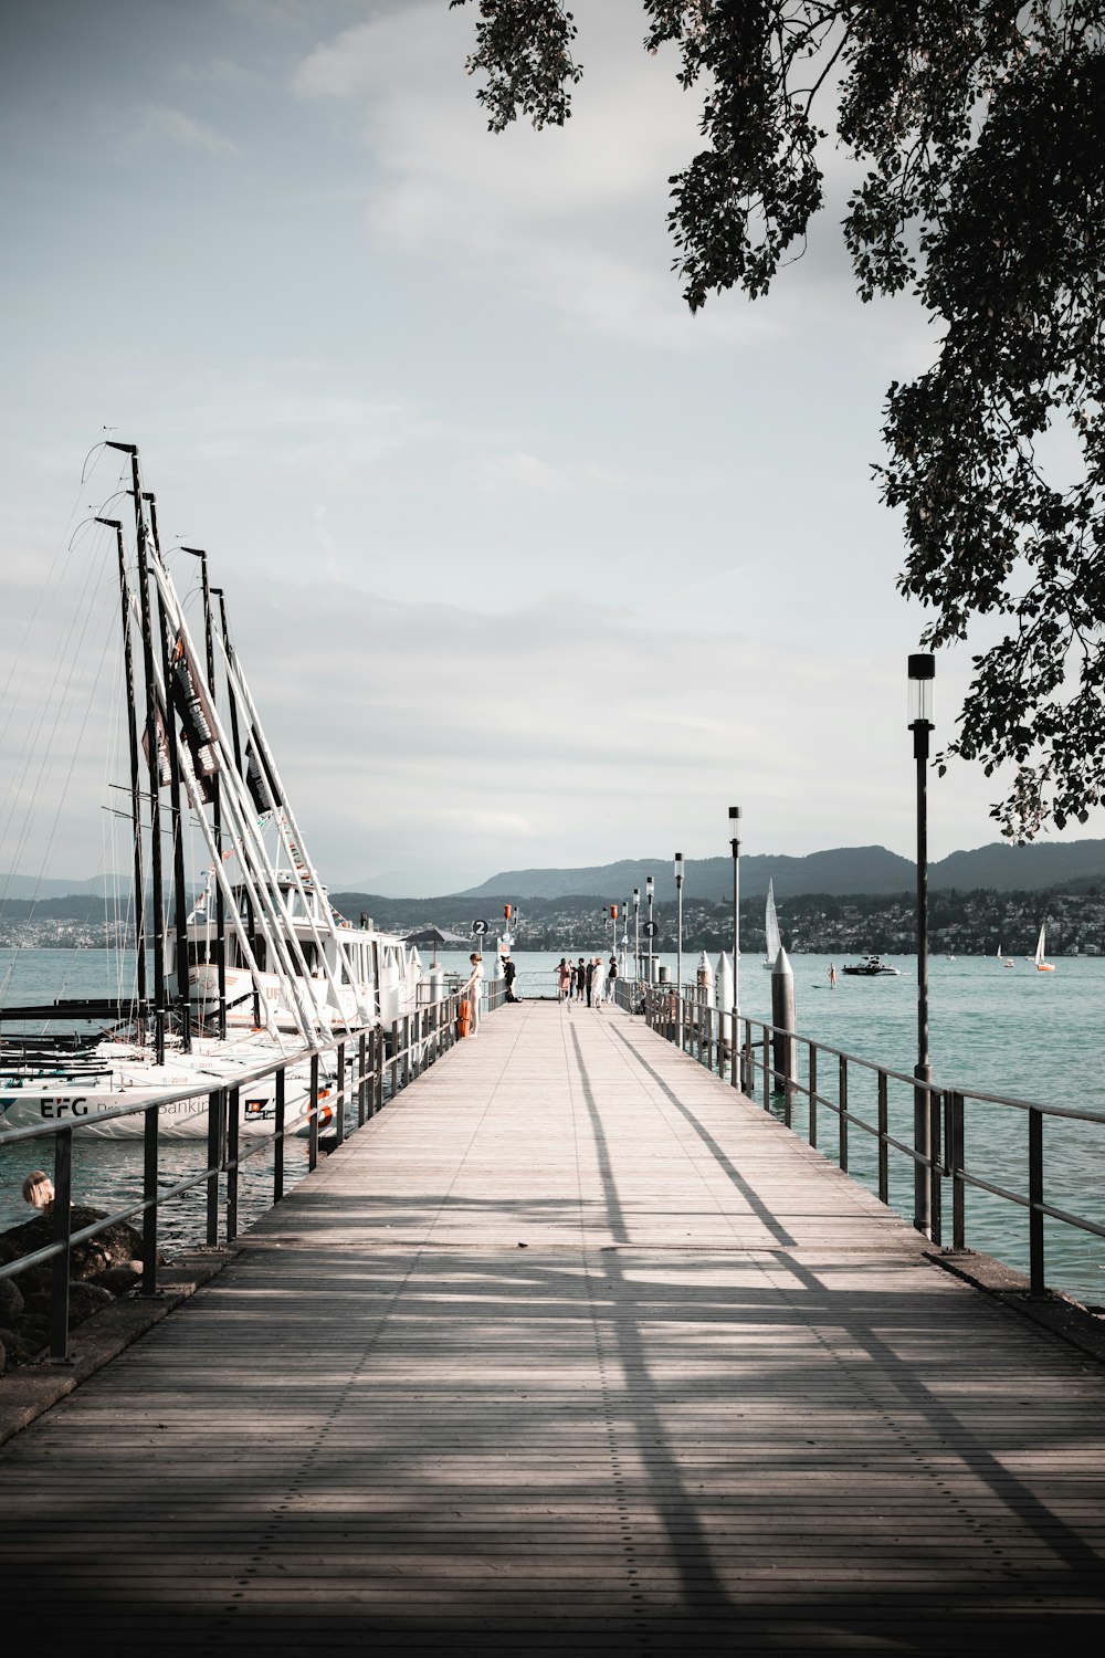
[[[462, 3], [462, 0], [452, 0]], [[482, 0], [469, 70], [490, 124], [562, 123], [572, 15]], [[946, 754], [1012, 761], [1002, 832], [1085, 821], [1105, 799], [1105, 0], [644, 0], [649, 51], [702, 93], [704, 148], [671, 179], [692, 310], [767, 292], [822, 207], [818, 144], [866, 166], [843, 224], [861, 298], [914, 292], [939, 328], [928, 373], [888, 393], [903, 594], [923, 643], [1006, 618], [974, 657]], [[815, 121], [825, 109], [825, 126]]]

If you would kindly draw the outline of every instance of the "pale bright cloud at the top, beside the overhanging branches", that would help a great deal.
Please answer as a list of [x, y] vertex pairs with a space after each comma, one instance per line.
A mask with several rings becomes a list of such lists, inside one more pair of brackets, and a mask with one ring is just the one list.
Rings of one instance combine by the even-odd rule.
[[608, 0], [580, 18], [583, 83], [565, 128], [519, 121], [487, 131], [467, 10], [399, 12], [345, 30], [298, 66], [302, 99], [355, 111], [378, 171], [369, 227], [381, 242], [552, 310], [562, 325], [651, 348], [770, 348], [810, 325], [855, 330], [858, 348], [931, 360], [931, 333], [906, 298], [863, 307], [840, 234], [856, 166], [825, 144], [828, 206], [805, 254], [780, 272], [770, 307], [741, 293], [691, 315], [673, 274], [671, 174], [701, 148], [699, 93], [676, 83], [676, 56], [641, 50], [639, 5]]

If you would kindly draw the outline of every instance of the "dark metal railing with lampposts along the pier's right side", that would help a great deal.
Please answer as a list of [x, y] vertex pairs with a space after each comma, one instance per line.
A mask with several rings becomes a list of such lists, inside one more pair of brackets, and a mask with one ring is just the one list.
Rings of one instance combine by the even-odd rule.
[[[843, 1174], [852, 1174], [856, 1161], [853, 1136], [866, 1137], [873, 1146], [870, 1171], [880, 1202], [891, 1202], [891, 1152], [905, 1162], [903, 1189], [913, 1192], [914, 1171], [923, 1169], [928, 1182], [929, 1224], [924, 1234], [933, 1244], [944, 1247], [949, 1230], [951, 1252], [966, 1250], [966, 1194], [984, 1192], [992, 1199], [1024, 1212], [1027, 1225], [1029, 1292], [1047, 1292], [1045, 1239], [1047, 1220], [1072, 1227], [1087, 1237], [1105, 1239], [1105, 1225], [1085, 1214], [1074, 1214], [1055, 1200], [1049, 1200], [1047, 1169], [1044, 1156], [1044, 1126], [1055, 1122], [1083, 1122], [1105, 1127], [1105, 1113], [1077, 1106], [1040, 1104], [1007, 1094], [981, 1089], [923, 1083], [913, 1074], [891, 1066], [861, 1059], [858, 1054], [828, 1043], [813, 1041], [795, 1031], [767, 1025], [762, 1020], [739, 1018], [739, 1043], [732, 1045], [732, 1015], [709, 1006], [697, 995], [678, 995], [671, 985], [625, 987], [620, 998], [633, 1006], [635, 990], [644, 1003], [644, 1018], [666, 1041], [714, 1071], [724, 1081], [741, 1089], [749, 1099], [760, 1099], [765, 1111], [774, 1113], [785, 1127], [800, 1132], [805, 1127], [808, 1144], [822, 1146], [822, 1111], [835, 1117], [837, 1134], [833, 1157]], [[633, 1008], [636, 1011], [636, 1008]], [[865, 1101], [860, 1101], [856, 1078], [866, 1083]], [[893, 1111], [898, 1099], [900, 1111]], [[901, 1114], [913, 1127], [913, 1106], [921, 1101], [928, 1119], [928, 1149], [891, 1131], [891, 1119]], [[1024, 1189], [1017, 1190], [999, 1182], [982, 1169], [967, 1164], [966, 1126], [967, 1106], [996, 1108], [1009, 1113], [1014, 1122], [1024, 1126], [1021, 1161], [1024, 1164]], [[797, 1121], [803, 1117], [802, 1121]], [[861, 1159], [860, 1159], [861, 1161]], [[946, 1229], [946, 1215], [951, 1225]]]

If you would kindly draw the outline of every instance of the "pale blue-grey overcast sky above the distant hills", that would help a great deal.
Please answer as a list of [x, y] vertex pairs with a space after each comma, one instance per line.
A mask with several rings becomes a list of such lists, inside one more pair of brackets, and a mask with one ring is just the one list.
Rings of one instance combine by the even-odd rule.
[[[578, 0], [572, 121], [502, 136], [447, 0], [0, 3], [0, 870], [114, 856], [104, 436], [192, 605], [207, 550], [335, 890], [721, 856], [731, 804], [746, 852], [913, 856], [924, 618], [871, 468], [936, 330], [856, 298], [847, 156], [772, 293], [691, 315], [697, 109], [639, 0]], [[1001, 779], [928, 793], [933, 857], [997, 839]]]

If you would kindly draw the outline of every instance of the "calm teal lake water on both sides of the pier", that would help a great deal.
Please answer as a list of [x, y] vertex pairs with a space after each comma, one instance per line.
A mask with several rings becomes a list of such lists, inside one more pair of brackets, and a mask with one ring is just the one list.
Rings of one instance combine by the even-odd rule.
[[[578, 950], [575, 952], [578, 957]], [[598, 940], [585, 955], [610, 955]], [[424, 957], [429, 960], [429, 957]], [[560, 952], [515, 952], [519, 988], [548, 995]], [[674, 957], [658, 957], [671, 977]], [[863, 1059], [910, 1074], [916, 1061], [916, 958], [886, 957], [900, 978], [850, 978], [828, 983], [830, 958], [792, 957], [797, 1026], [800, 1035]], [[449, 972], [467, 970], [467, 952], [442, 952]], [[709, 957], [716, 967], [716, 957]], [[490, 952], [485, 953], [490, 965]], [[692, 980], [697, 952], [684, 952], [683, 977]], [[929, 967], [929, 1046], [933, 1074], [943, 1086], [992, 1093], [1024, 1101], [1095, 1111], [1105, 1116], [1105, 958], [1055, 960], [1054, 973], [1037, 973], [1030, 960], [1004, 968], [994, 957], [936, 957]], [[0, 1000], [5, 1003], [53, 1000], [70, 995], [109, 995], [133, 982], [133, 957], [119, 963], [101, 950], [0, 950]], [[770, 1020], [770, 973], [759, 957], [741, 960], [741, 1011]], [[504, 1010], [502, 1016], [509, 1016]], [[800, 1076], [805, 1058], [800, 1056]], [[822, 1056], [820, 1091], [830, 1094], [835, 1063]], [[873, 1121], [873, 1073], [850, 1076], [850, 1111]], [[906, 1084], [891, 1084], [891, 1132], [911, 1141], [913, 1098]], [[805, 1132], [805, 1111], [795, 1111], [795, 1127]], [[835, 1149], [837, 1121], [822, 1109], [820, 1144]], [[967, 1104], [967, 1167], [986, 1179], [1024, 1192], [1027, 1189], [1027, 1114], [1011, 1106]], [[176, 1142], [166, 1154], [166, 1184], [202, 1167], [202, 1144]], [[35, 1159], [27, 1147], [0, 1142], [0, 1227], [27, 1219], [18, 1187]], [[873, 1141], [852, 1131], [850, 1171], [875, 1182]], [[287, 1184], [306, 1172], [306, 1147], [293, 1142], [287, 1154]], [[242, 1225], [262, 1212], [272, 1184], [272, 1161], [260, 1157], [242, 1180]], [[76, 1154], [76, 1185], [86, 1202], [116, 1205], [141, 1189], [141, 1144], [86, 1144]], [[911, 1166], [891, 1159], [891, 1202], [911, 1214]], [[1055, 1207], [1105, 1225], [1105, 1124], [1050, 1119], [1045, 1126], [1045, 1199]], [[174, 1202], [162, 1222], [167, 1245], [202, 1239], [204, 1199], [187, 1194]], [[946, 1217], [946, 1240], [951, 1217]], [[1049, 1222], [1047, 1280], [1090, 1305], [1105, 1302], [1105, 1240]], [[967, 1245], [1027, 1270], [1027, 1215], [987, 1194], [967, 1192]]]

